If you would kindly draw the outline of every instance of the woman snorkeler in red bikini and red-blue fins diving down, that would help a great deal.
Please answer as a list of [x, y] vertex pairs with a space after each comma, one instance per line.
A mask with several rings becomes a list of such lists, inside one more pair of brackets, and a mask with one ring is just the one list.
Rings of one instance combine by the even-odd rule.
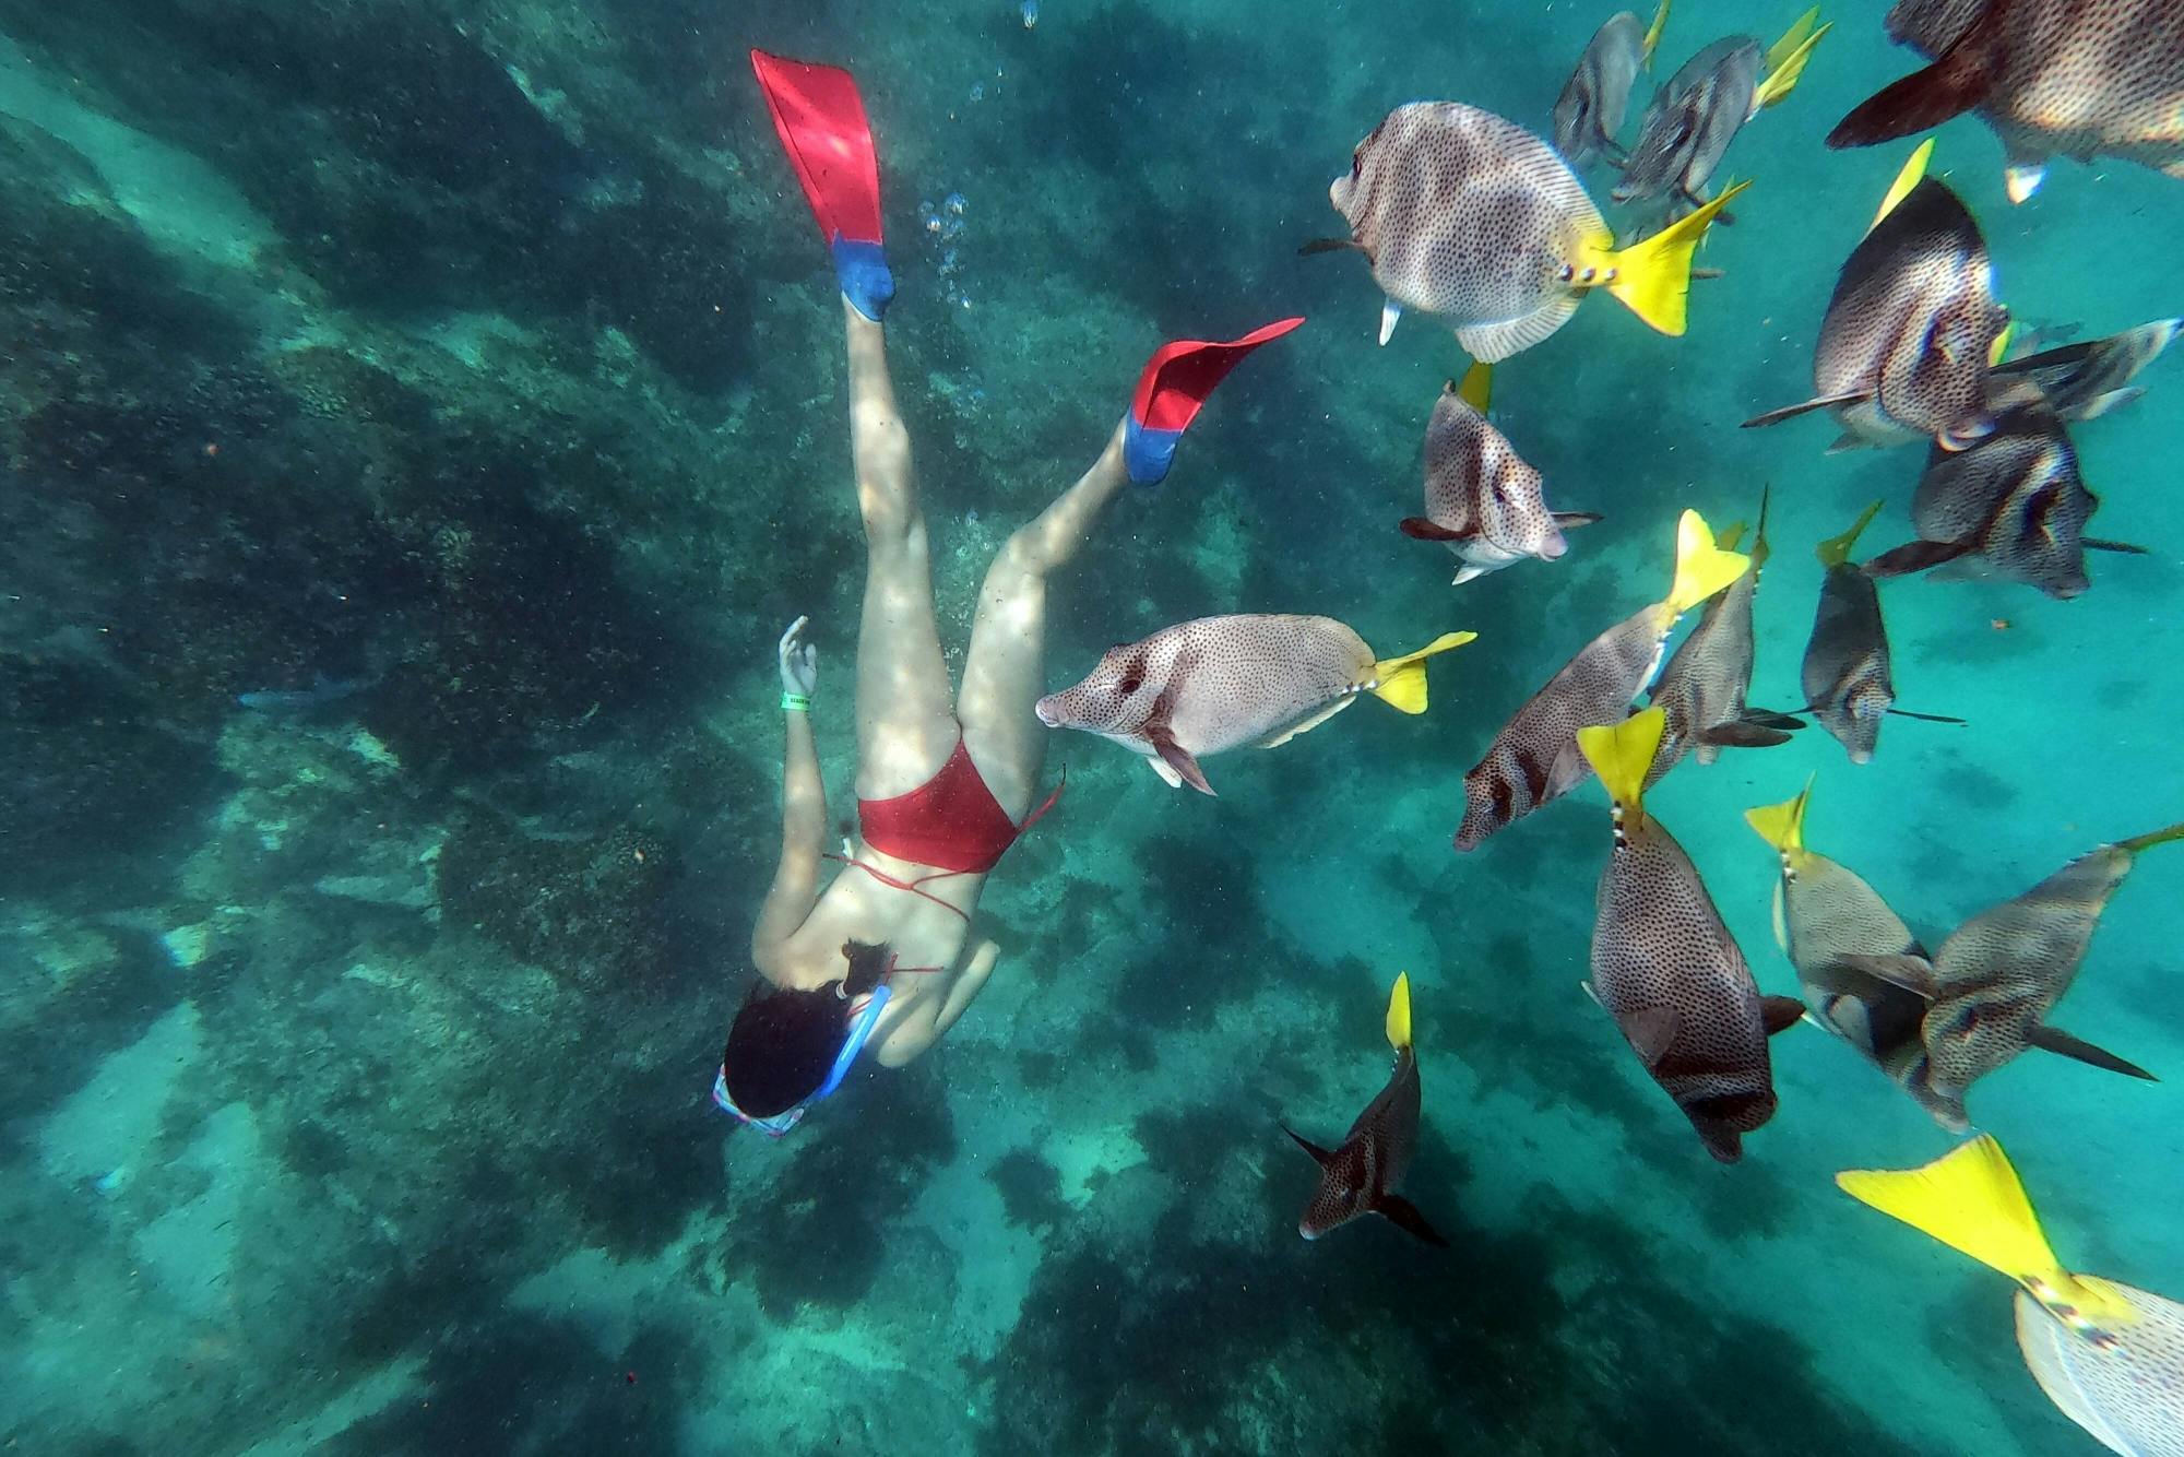
[[[817, 651], [797, 618], [780, 642], [786, 758], [782, 856], [751, 931], [764, 985], [736, 1014], [714, 1101], [786, 1134], [858, 1055], [902, 1066], [985, 987], [994, 941], [972, 944], [985, 876], [1042, 797], [1046, 579], [1085, 544], [1109, 500], [1168, 472], [1199, 404], [1245, 354], [1302, 319], [1234, 343], [1177, 341], [1147, 363], [1129, 415], [1092, 467], [994, 557], [978, 590], [963, 684], [950, 692], [933, 612], [926, 522], [895, 411], [880, 317], [895, 286], [880, 247], [878, 164], [847, 72], [751, 52], [788, 162], [841, 280], [850, 343], [850, 448], [865, 520], [856, 649], [856, 843], [828, 852], [812, 743]], [[821, 889], [826, 861], [843, 869]], [[968, 955], [965, 955], [968, 950]]]

